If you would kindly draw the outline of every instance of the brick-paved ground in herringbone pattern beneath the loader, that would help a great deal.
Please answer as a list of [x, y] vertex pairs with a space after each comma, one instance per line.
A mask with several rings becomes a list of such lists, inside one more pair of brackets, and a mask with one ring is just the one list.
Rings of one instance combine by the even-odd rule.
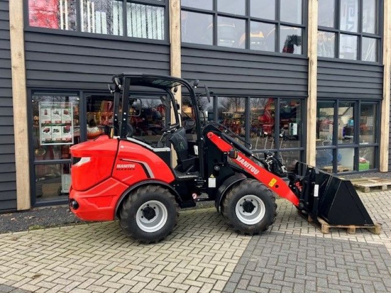
[[362, 194], [381, 235], [323, 235], [278, 200], [272, 229], [243, 236], [215, 209], [180, 212], [165, 241], [140, 245], [118, 223], [0, 235], [3, 292], [391, 292], [391, 192]]

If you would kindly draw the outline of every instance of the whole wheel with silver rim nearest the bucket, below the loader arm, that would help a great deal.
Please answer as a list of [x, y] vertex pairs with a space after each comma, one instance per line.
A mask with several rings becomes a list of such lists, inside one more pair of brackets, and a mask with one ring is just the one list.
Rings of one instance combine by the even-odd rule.
[[261, 182], [245, 179], [228, 190], [221, 213], [227, 224], [241, 234], [259, 234], [276, 218], [276, 197]]

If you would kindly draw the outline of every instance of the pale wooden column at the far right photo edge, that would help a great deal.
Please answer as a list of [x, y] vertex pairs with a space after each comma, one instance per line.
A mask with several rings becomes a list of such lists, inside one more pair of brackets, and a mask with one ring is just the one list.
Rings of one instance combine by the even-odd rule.
[[390, 78], [391, 78], [391, 0], [384, 0], [383, 35], [383, 101], [380, 126], [380, 171], [387, 172], [389, 165], [390, 135]]

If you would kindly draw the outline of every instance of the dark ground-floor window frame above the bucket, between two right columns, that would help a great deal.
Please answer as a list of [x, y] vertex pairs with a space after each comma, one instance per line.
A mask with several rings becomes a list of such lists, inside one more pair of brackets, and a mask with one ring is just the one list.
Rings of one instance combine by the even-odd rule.
[[[379, 152], [380, 152], [380, 121], [381, 121], [381, 100], [368, 100], [368, 99], [343, 99], [343, 98], [336, 98], [336, 99], [318, 99], [318, 102], [331, 102], [334, 104], [334, 113], [333, 113], [333, 141], [332, 144], [329, 146], [316, 146], [316, 150], [325, 150], [325, 149], [331, 149], [333, 154], [333, 173], [337, 173], [337, 167], [338, 167], [338, 150], [339, 149], [347, 149], [347, 148], [353, 148], [354, 149], [354, 161], [353, 161], [353, 170], [348, 172], [340, 172], [338, 174], [357, 174], [357, 173], [365, 173], [365, 172], [373, 172], [379, 170]], [[335, 127], [335, 123], [338, 122], [338, 107], [340, 103], [354, 103], [354, 142], [352, 144], [339, 144], [338, 143], [338, 127]], [[376, 105], [376, 127], [375, 127], [375, 142], [370, 144], [360, 144], [360, 109], [361, 105]], [[317, 107], [317, 114], [316, 114], [316, 120], [318, 121], [318, 105]], [[365, 170], [365, 171], [359, 171], [359, 156], [360, 156], [360, 149], [361, 148], [367, 148], [372, 147], [374, 149], [374, 164], [373, 168]]]

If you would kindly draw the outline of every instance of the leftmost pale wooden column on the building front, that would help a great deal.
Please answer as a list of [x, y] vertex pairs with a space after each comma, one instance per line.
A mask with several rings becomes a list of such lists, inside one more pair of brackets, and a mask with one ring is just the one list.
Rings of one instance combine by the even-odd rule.
[[14, 111], [15, 167], [18, 210], [30, 209], [28, 115], [24, 63], [23, 0], [9, 1], [9, 26]]

